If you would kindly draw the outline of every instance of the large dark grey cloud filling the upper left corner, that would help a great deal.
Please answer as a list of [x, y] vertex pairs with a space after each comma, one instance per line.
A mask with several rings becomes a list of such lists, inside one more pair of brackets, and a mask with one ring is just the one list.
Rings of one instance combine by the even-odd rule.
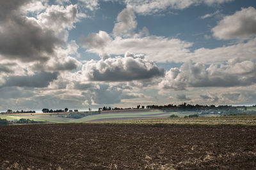
[[55, 46], [63, 42], [51, 29], [26, 17], [20, 8], [26, 3], [29, 1], [0, 2], [0, 54], [6, 59], [19, 59], [23, 62], [48, 60]]

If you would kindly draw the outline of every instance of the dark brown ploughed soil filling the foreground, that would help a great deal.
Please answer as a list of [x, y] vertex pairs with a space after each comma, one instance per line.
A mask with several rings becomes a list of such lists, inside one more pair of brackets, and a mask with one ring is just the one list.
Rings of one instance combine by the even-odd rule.
[[0, 127], [0, 169], [255, 169], [256, 127]]

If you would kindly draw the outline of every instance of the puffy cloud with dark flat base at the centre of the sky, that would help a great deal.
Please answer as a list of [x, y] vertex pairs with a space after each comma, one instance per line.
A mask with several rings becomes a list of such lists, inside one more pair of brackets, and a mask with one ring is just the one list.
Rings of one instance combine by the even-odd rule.
[[131, 54], [106, 60], [90, 60], [83, 65], [82, 71], [92, 81], [132, 81], [164, 75], [164, 69], [157, 67], [154, 62], [135, 55], [131, 57]]

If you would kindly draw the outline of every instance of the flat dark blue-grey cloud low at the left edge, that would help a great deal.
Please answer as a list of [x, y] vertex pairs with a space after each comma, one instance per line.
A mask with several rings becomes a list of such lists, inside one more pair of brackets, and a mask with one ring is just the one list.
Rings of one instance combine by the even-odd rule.
[[1, 87], [47, 87], [49, 83], [56, 80], [58, 73], [40, 72], [33, 76], [9, 76]]

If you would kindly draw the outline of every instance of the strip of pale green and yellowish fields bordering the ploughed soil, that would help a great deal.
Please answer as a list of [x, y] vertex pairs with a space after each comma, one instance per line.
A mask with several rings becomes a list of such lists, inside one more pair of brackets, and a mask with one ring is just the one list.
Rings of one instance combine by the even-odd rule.
[[[19, 120], [29, 118], [30, 120], [43, 121], [48, 123], [115, 123], [115, 124], [241, 124], [256, 125], [256, 115], [220, 117], [216, 115], [206, 115], [206, 117], [184, 118], [196, 112], [163, 112], [160, 110], [143, 112], [112, 112], [98, 115], [88, 115], [82, 118], [65, 118], [61, 115], [0, 115], [0, 118], [7, 120]], [[168, 118], [170, 115], [177, 115], [178, 118]], [[63, 116], [63, 115], [62, 115]]]

